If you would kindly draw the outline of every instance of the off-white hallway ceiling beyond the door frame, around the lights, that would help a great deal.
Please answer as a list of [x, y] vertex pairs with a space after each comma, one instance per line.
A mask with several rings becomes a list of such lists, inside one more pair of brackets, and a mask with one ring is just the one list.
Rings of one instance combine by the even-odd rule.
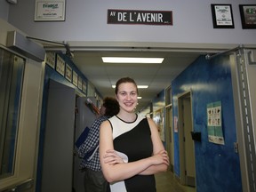
[[[73, 61], [84, 76], [95, 86], [102, 97], [114, 96], [111, 87], [124, 76], [132, 77], [137, 84], [148, 85], [140, 89], [142, 97], [137, 110], [148, 106], [150, 100], [171, 85], [172, 79], [180, 74], [201, 54], [200, 52], [118, 52], [118, 51], [78, 51], [73, 52]], [[124, 57], [164, 57], [162, 64], [111, 64], [103, 63], [102, 56]]]

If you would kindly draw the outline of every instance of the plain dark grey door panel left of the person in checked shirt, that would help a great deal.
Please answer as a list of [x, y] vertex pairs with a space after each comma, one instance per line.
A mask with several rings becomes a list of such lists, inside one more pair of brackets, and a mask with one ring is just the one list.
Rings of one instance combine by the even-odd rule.
[[41, 191], [70, 192], [73, 177], [75, 89], [50, 80]]

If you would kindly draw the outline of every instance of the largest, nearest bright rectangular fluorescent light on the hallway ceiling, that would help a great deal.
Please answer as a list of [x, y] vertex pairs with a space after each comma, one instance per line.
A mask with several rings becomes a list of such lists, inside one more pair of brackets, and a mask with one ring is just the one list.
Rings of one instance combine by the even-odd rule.
[[164, 58], [102, 57], [107, 63], [162, 63]]

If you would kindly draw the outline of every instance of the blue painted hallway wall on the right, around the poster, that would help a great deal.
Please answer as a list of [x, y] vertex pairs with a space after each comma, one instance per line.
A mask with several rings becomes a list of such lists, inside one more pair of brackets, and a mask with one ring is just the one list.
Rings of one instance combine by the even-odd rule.
[[[202, 141], [195, 141], [196, 191], [241, 192], [239, 156], [234, 151], [236, 124], [229, 57], [205, 60], [201, 56], [172, 81], [173, 116], [178, 116], [177, 95], [189, 90], [194, 131], [202, 133]], [[206, 106], [215, 101], [221, 101], [225, 145], [208, 141]], [[174, 172], [180, 176], [179, 132], [174, 132], [174, 148]]]

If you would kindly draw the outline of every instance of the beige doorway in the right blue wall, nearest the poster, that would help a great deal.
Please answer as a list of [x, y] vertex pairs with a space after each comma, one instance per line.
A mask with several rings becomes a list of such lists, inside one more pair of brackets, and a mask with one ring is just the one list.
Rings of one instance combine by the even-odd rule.
[[191, 137], [193, 132], [191, 92], [178, 97], [179, 139], [180, 139], [180, 183], [196, 187], [195, 147]]

